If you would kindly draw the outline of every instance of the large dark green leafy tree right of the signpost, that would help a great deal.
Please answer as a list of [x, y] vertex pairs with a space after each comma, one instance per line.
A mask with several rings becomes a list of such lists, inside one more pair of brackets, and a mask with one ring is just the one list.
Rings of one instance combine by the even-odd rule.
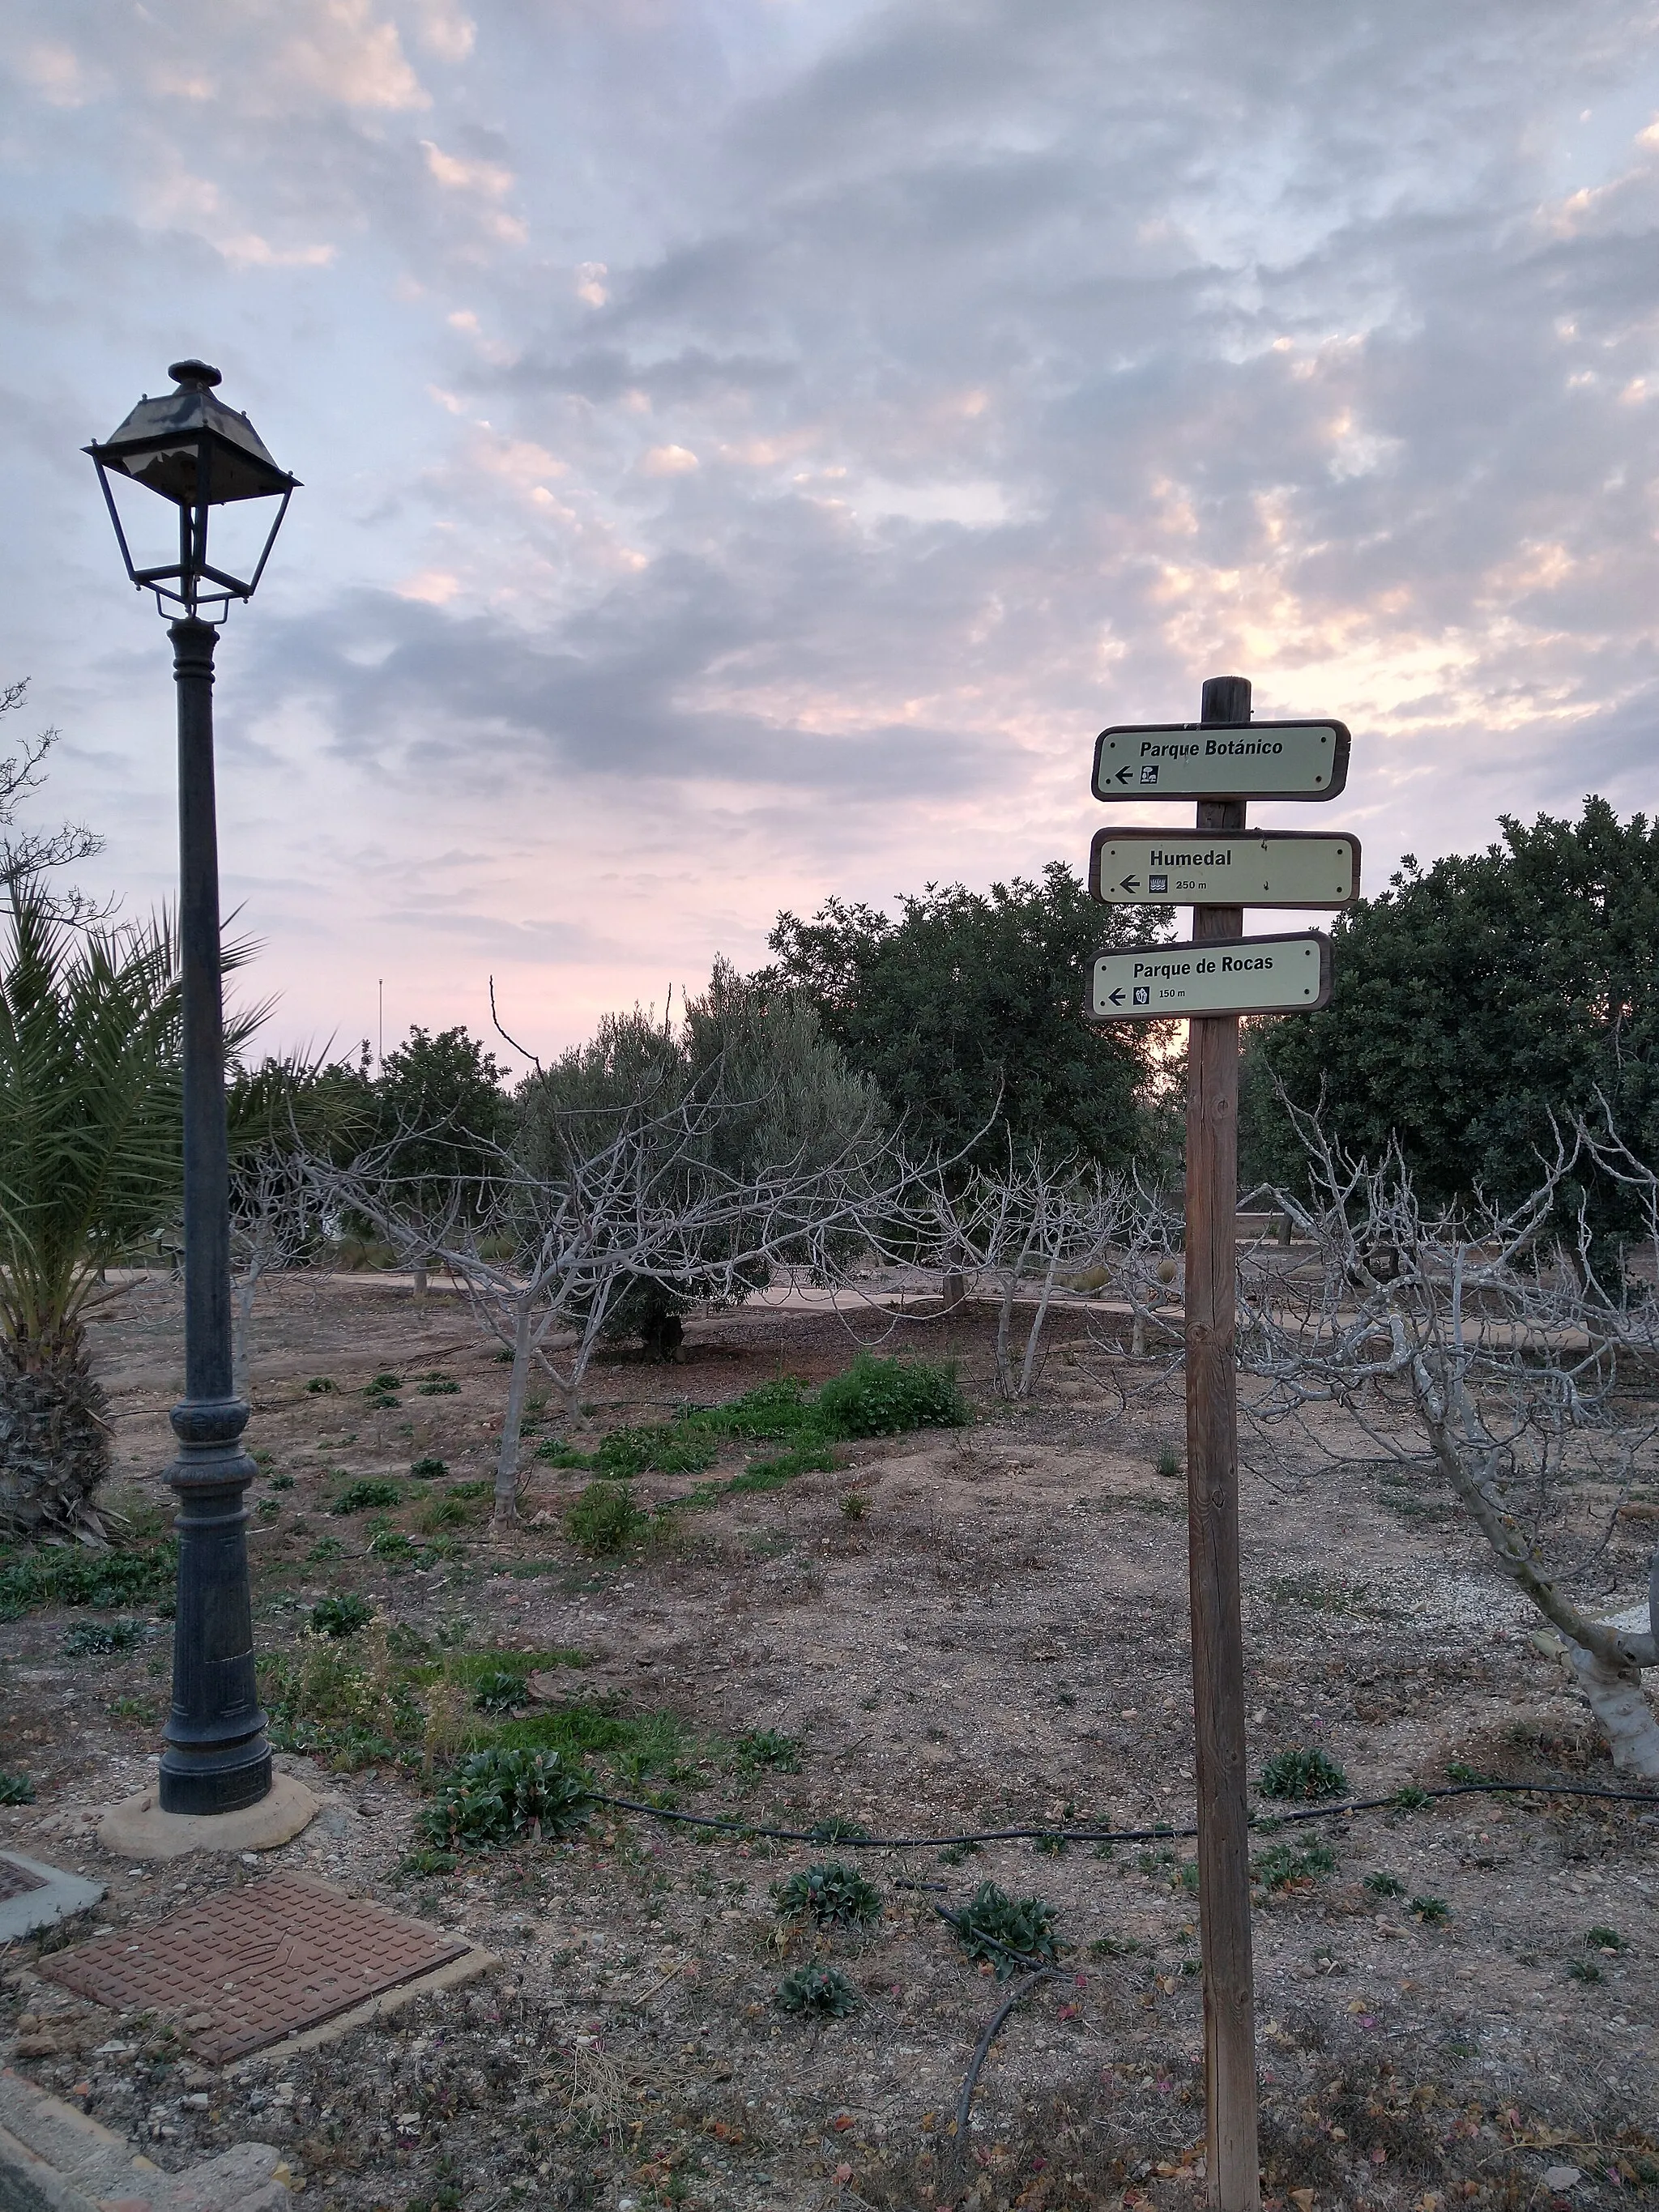
[[1254, 1024], [1241, 1084], [1245, 1177], [1301, 1181], [1272, 1082], [1349, 1152], [1398, 1135], [1425, 1203], [1537, 1181], [1551, 1115], [1599, 1091], [1659, 1157], [1659, 823], [1586, 799], [1577, 823], [1502, 818], [1502, 841], [1431, 867], [1336, 925], [1334, 989], [1314, 1015]]

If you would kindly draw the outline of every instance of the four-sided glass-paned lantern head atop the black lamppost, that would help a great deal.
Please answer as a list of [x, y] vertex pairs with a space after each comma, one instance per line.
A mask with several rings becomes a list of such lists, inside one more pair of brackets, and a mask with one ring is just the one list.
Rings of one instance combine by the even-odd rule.
[[[215, 398], [219, 369], [206, 361], [175, 361], [168, 376], [177, 385], [175, 392], [159, 400], [142, 398], [111, 438], [84, 451], [91, 453], [97, 482], [104, 487], [104, 504], [133, 584], [155, 593], [161, 615], [221, 622], [232, 599], [252, 597], [299, 478], [276, 467], [248, 416]], [[179, 509], [177, 560], [135, 566], [111, 476], [128, 478], [173, 500]], [[248, 577], [215, 566], [208, 557], [208, 513], [232, 500], [279, 502]]]

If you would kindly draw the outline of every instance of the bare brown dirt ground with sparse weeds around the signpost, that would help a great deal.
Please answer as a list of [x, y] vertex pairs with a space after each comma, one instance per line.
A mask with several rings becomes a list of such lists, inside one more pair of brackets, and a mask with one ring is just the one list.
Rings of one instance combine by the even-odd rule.
[[[622, 1794], [666, 1778], [681, 1807], [752, 1825], [1181, 1829], [1183, 1484], [1157, 1471], [1164, 1447], [1179, 1451], [1181, 1407], [1150, 1369], [1088, 1347], [1082, 1327], [1075, 1312], [1055, 1318], [1029, 1411], [991, 1394], [989, 1316], [911, 1332], [905, 1349], [962, 1360], [973, 1427], [847, 1447], [834, 1473], [677, 1513], [670, 1537], [615, 1562], [566, 1540], [562, 1513], [586, 1475], [546, 1464], [504, 1542], [482, 1524], [484, 1502], [462, 1495], [453, 1553], [398, 1559], [369, 1548], [372, 1515], [332, 1515], [330, 1502], [345, 1478], [394, 1478], [405, 1502], [385, 1524], [436, 1526], [445, 1480], [414, 1482], [409, 1467], [442, 1458], [449, 1482], [489, 1473], [504, 1369], [438, 1292], [416, 1310], [374, 1283], [279, 1281], [261, 1298], [248, 1431], [261, 1458], [261, 1650], [294, 1650], [310, 1604], [356, 1590], [407, 1650], [577, 1655], [568, 1701], [675, 1723], [657, 1739], [679, 1745], [672, 1774], [635, 1765]], [[131, 1290], [100, 1325], [97, 1356], [122, 1480], [159, 1504], [175, 1290]], [[602, 1360], [586, 1429], [571, 1433], [588, 1449], [611, 1427], [781, 1371], [816, 1383], [847, 1358], [847, 1332], [825, 1314], [699, 1321], [684, 1365]], [[403, 1378], [396, 1407], [365, 1407], [376, 1374]], [[458, 1387], [420, 1394], [416, 1378], [434, 1374]], [[336, 1389], [310, 1391], [314, 1378]], [[557, 1400], [538, 1433], [566, 1433]], [[743, 1458], [726, 1447], [714, 1473]], [[1615, 1783], [1584, 1708], [1429, 1475], [1334, 1469], [1290, 1438], [1248, 1440], [1245, 1462], [1252, 1774], [1274, 1750], [1321, 1745], [1378, 1796], [1444, 1783], [1449, 1763]], [[637, 1484], [646, 1502], [688, 1489], [668, 1475]], [[863, 1511], [843, 1504], [849, 1493]], [[1621, 1524], [1610, 1586], [1635, 1593], [1648, 1537]], [[181, 2055], [161, 2017], [117, 2020], [53, 1991], [31, 1971], [40, 1944], [15, 1944], [0, 1964], [13, 2064], [159, 2163], [276, 2141], [307, 2201], [338, 2212], [1201, 2201], [1188, 1840], [860, 1854], [883, 1918], [816, 1938], [779, 1922], [770, 1885], [852, 1856], [841, 1847], [708, 1840], [613, 1814], [577, 1840], [420, 1876], [405, 1867], [418, 1756], [330, 1772], [288, 1754], [325, 1807], [283, 1851], [128, 1869], [102, 1858], [80, 1812], [148, 1772], [166, 1635], [157, 1624], [133, 1652], [71, 1657], [64, 1635], [84, 1619], [35, 1610], [0, 1626], [0, 1767], [38, 1783], [35, 1805], [0, 1816], [0, 1840], [106, 1880], [97, 1918], [115, 1927], [281, 1860], [467, 1929], [500, 1960], [469, 1989], [281, 2068], [219, 2073]], [[385, 1652], [385, 1630], [374, 1637]], [[734, 1752], [765, 1730], [801, 1743], [799, 1772]], [[628, 1781], [606, 1756], [595, 1767], [608, 1787]], [[1334, 1863], [1259, 1891], [1270, 2203], [1438, 2212], [1659, 2194], [1659, 1809], [1471, 1796], [1287, 1829], [1261, 1849], [1287, 1838], [1323, 1838]], [[1398, 1891], [1367, 1876], [1394, 1876]], [[933, 1907], [984, 1880], [1057, 1907], [1066, 1971], [1004, 2024], [958, 2143], [958, 2090], [1000, 1991]], [[779, 2011], [781, 1975], [812, 1955], [856, 1984], [849, 2017]]]

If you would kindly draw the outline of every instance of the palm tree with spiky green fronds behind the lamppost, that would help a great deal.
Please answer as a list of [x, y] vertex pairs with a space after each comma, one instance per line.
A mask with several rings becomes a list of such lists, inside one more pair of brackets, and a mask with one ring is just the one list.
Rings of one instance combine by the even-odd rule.
[[[226, 951], [226, 967], [250, 956]], [[232, 1024], [234, 1048], [263, 1009]], [[82, 929], [38, 874], [0, 922], [0, 1526], [102, 1535], [111, 1427], [86, 1318], [181, 1183], [168, 918]]]

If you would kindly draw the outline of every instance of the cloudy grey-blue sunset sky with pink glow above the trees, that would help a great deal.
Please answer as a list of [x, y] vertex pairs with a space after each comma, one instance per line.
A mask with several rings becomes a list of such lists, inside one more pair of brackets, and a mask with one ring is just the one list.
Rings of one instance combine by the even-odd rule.
[[219, 648], [274, 1042], [493, 973], [546, 1051], [1082, 865], [1095, 730], [1212, 672], [1349, 721], [1259, 816], [1371, 887], [1655, 805], [1652, 7], [53, 0], [0, 66], [0, 675], [128, 911], [173, 686], [77, 449], [197, 352], [305, 482]]

